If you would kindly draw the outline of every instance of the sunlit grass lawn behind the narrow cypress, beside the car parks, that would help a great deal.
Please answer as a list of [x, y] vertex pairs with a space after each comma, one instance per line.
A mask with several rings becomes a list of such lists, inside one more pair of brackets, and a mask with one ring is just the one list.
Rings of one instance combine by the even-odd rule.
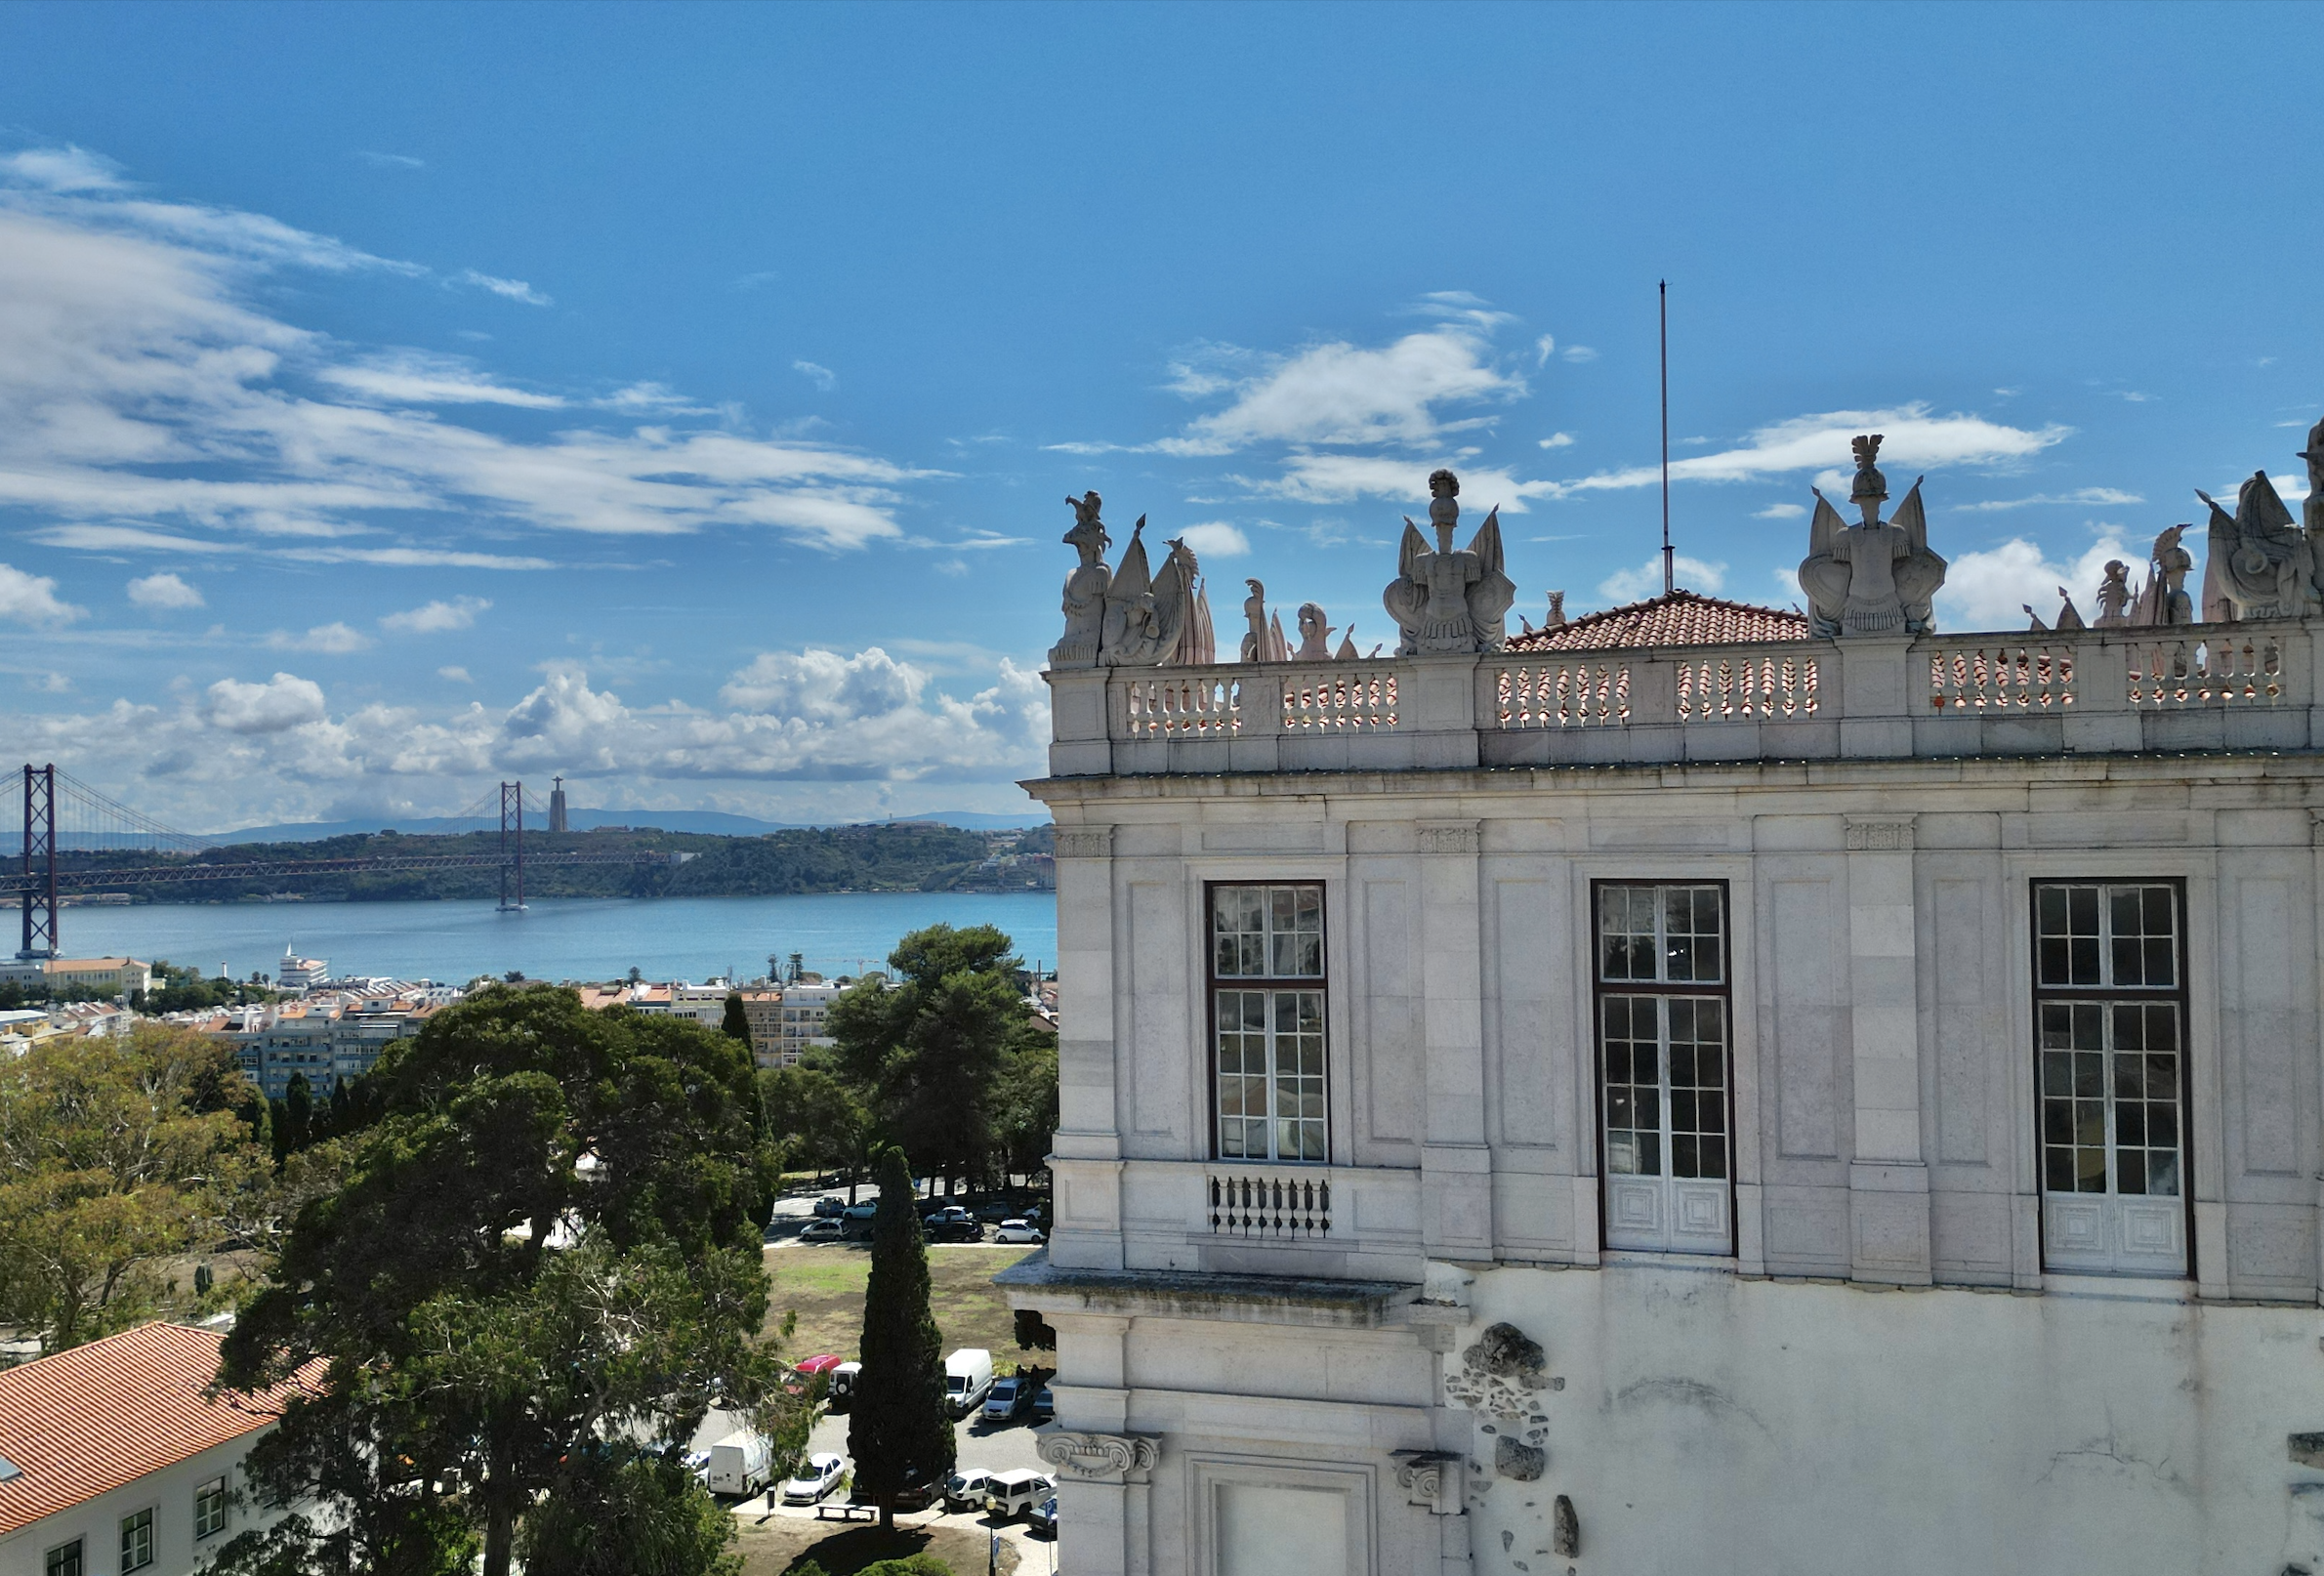
[[[1023, 1246], [930, 1244], [930, 1309], [944, 1332], [944, 1351], [983, 1346], [992, 1367], [1002, 1369], [1032, 1357], [1018, 1351], [1016, 1316], [992, 1276], [1032, 1253]], [[871, 1278], [869, 1244], [813, 1244], [767, 1248], [767, 1274], [774, 1297], [767, 1304], [767, 1330], [783, 1327], [783, 1313], [797, 1311], [799, 1327], [783, 1348], [786, 1357], [839, 1353], [858, 1357], [865, 1327], [865, 1281]], [[834, 1567], [837, 1576], [837, 1567]]]

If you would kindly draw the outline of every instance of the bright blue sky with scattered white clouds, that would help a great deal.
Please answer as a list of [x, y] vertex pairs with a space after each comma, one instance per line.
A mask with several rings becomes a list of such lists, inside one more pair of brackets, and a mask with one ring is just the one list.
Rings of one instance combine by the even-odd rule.
[[2192, 488], [2303, 490], [2303, 58], [2319, 9], [14, 5], [0, 753], [198, 830], [1016, 809], [1067, 493], [1367, 649], [1443, 463], [1520, 614], [1659, 588], [1659, 277], [1685, 583], [1796, 600], [1873, 425], [1945, 628], [2087, 607]]

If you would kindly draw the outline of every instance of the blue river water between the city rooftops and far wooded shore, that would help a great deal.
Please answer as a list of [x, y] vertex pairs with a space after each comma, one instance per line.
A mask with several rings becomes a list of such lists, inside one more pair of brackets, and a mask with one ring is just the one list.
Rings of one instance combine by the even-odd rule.
[[548, 897], [523, 914], [490, 902], [237, 902], [72, 907], [58, 916], [72, 958], [221, 962], [235, 979], [274, 974], [284, 946], [335, 974], [460, 983], [530, 979], [709, 979], [767, 972], [804, 953], [823, 976], [878, 967], [906, 930], [999, 925], [1025, 962], [1057, 967], [1055, 893], [832, 893], [823, 897]]

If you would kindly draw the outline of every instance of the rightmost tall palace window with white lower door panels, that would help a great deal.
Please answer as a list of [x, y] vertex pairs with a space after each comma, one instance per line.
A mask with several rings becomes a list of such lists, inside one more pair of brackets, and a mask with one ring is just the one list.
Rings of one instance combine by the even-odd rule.
[[2043, 1258], [2187, 1274], [2180, 888], [2033, 886]]

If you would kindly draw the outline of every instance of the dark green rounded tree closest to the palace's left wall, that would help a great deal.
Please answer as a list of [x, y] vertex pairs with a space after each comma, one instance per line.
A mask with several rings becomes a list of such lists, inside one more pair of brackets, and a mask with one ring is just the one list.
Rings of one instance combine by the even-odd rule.
[[1030, 1009], [1013, 944], [992, 925], [930, 925], [888, 955], [899, 981], [832, 1002], [830, 1032], [878, 1127], [930, 1176], [974, 1176], [992, 1153], [992, 1081]]

